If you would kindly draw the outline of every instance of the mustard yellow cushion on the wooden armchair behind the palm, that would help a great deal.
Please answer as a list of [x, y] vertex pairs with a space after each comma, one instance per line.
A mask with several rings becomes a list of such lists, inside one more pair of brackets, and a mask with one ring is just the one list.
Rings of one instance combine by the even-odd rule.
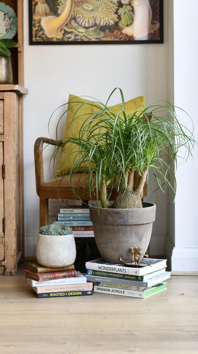
[[[73, 103], [78, 102], [78, 103]], [[80, 104], [79, 104], [80, 102]], [[90, 102], [90, 100], [75, 96], [73, 94], [69, 95], [67, 119], [64, 129], [64, 138], [78, 136], [79, 130], [83, 125], [84, 121], [93, 113], [99, 112], [99, 104], [92, 102], [96, 105], [93, 107], [89, 104], [83, 104], [85, 102]], [[81, 106], [81, 104], [83, 104]], [[138, 108], [139, 107], [139, 108]], [[132, 114], [136, 108], [142, 110], [145, 107], [145, 96], [139, 96], [129, 101], [125, 102], [125, 112], [126, 115]], [[117, 114], [122, 111], [122, 103], [118, 103], [114, 106], [109, 106], [108, 109], [113, 113]], [[75, 122], [71, 125], [71, 122], [75, 118]], [[61, 151], [59, 166], [56, 171], [56, 177], [61, 177], [70, 173], [74, 161], [79, 156], [79, 147], [74, 144], [65, 144]], [[86, 168], [86, 163], [84, 166], [78, 169], [78, 172], [83, 172]]]

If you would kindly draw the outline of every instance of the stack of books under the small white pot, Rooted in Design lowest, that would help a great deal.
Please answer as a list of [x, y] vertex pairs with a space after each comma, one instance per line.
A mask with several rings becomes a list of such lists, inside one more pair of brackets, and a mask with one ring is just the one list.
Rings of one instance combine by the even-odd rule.
[[92, 295], [93, 283], [74, 269], [74, 265], [61, 268], [49, 268], [37, 262], [29, 263], [24, 270], [28, 286], [37, 297], [64, 297]]

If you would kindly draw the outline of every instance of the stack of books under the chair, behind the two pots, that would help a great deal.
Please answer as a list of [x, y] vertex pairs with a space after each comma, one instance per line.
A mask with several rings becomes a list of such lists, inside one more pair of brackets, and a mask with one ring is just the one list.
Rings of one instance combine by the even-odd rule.
[[57, 221], [70, 226], [74, 237], [94, 237], [89, 208], [60, 208]]

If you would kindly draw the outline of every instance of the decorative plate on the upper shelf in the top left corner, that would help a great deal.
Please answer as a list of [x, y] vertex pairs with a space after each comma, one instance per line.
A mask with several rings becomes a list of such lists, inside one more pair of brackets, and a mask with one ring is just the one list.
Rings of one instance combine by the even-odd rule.
[[11, 39], [17, 32], [17, 17], [14, 9], [0, 2], [0, 39]]

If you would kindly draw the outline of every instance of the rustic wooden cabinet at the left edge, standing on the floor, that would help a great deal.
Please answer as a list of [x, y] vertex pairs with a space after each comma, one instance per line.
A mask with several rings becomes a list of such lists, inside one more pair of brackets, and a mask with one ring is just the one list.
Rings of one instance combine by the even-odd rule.
[[16, 274], [23, 256], [22, 96], [27, 89], [0, 85], [0, 274]]

